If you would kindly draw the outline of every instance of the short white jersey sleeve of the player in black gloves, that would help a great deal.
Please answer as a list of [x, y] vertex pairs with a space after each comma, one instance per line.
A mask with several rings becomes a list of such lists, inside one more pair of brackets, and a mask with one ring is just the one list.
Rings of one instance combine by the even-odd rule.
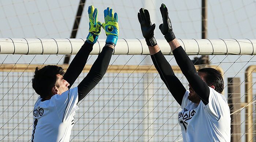
[[211, 119], [218, 121], [222, 114], [225, 113], [226, 107], [228, 107], [226, 98], [216, 92], [213, 88], [210, 88], [209, 103], [204, 106]]

